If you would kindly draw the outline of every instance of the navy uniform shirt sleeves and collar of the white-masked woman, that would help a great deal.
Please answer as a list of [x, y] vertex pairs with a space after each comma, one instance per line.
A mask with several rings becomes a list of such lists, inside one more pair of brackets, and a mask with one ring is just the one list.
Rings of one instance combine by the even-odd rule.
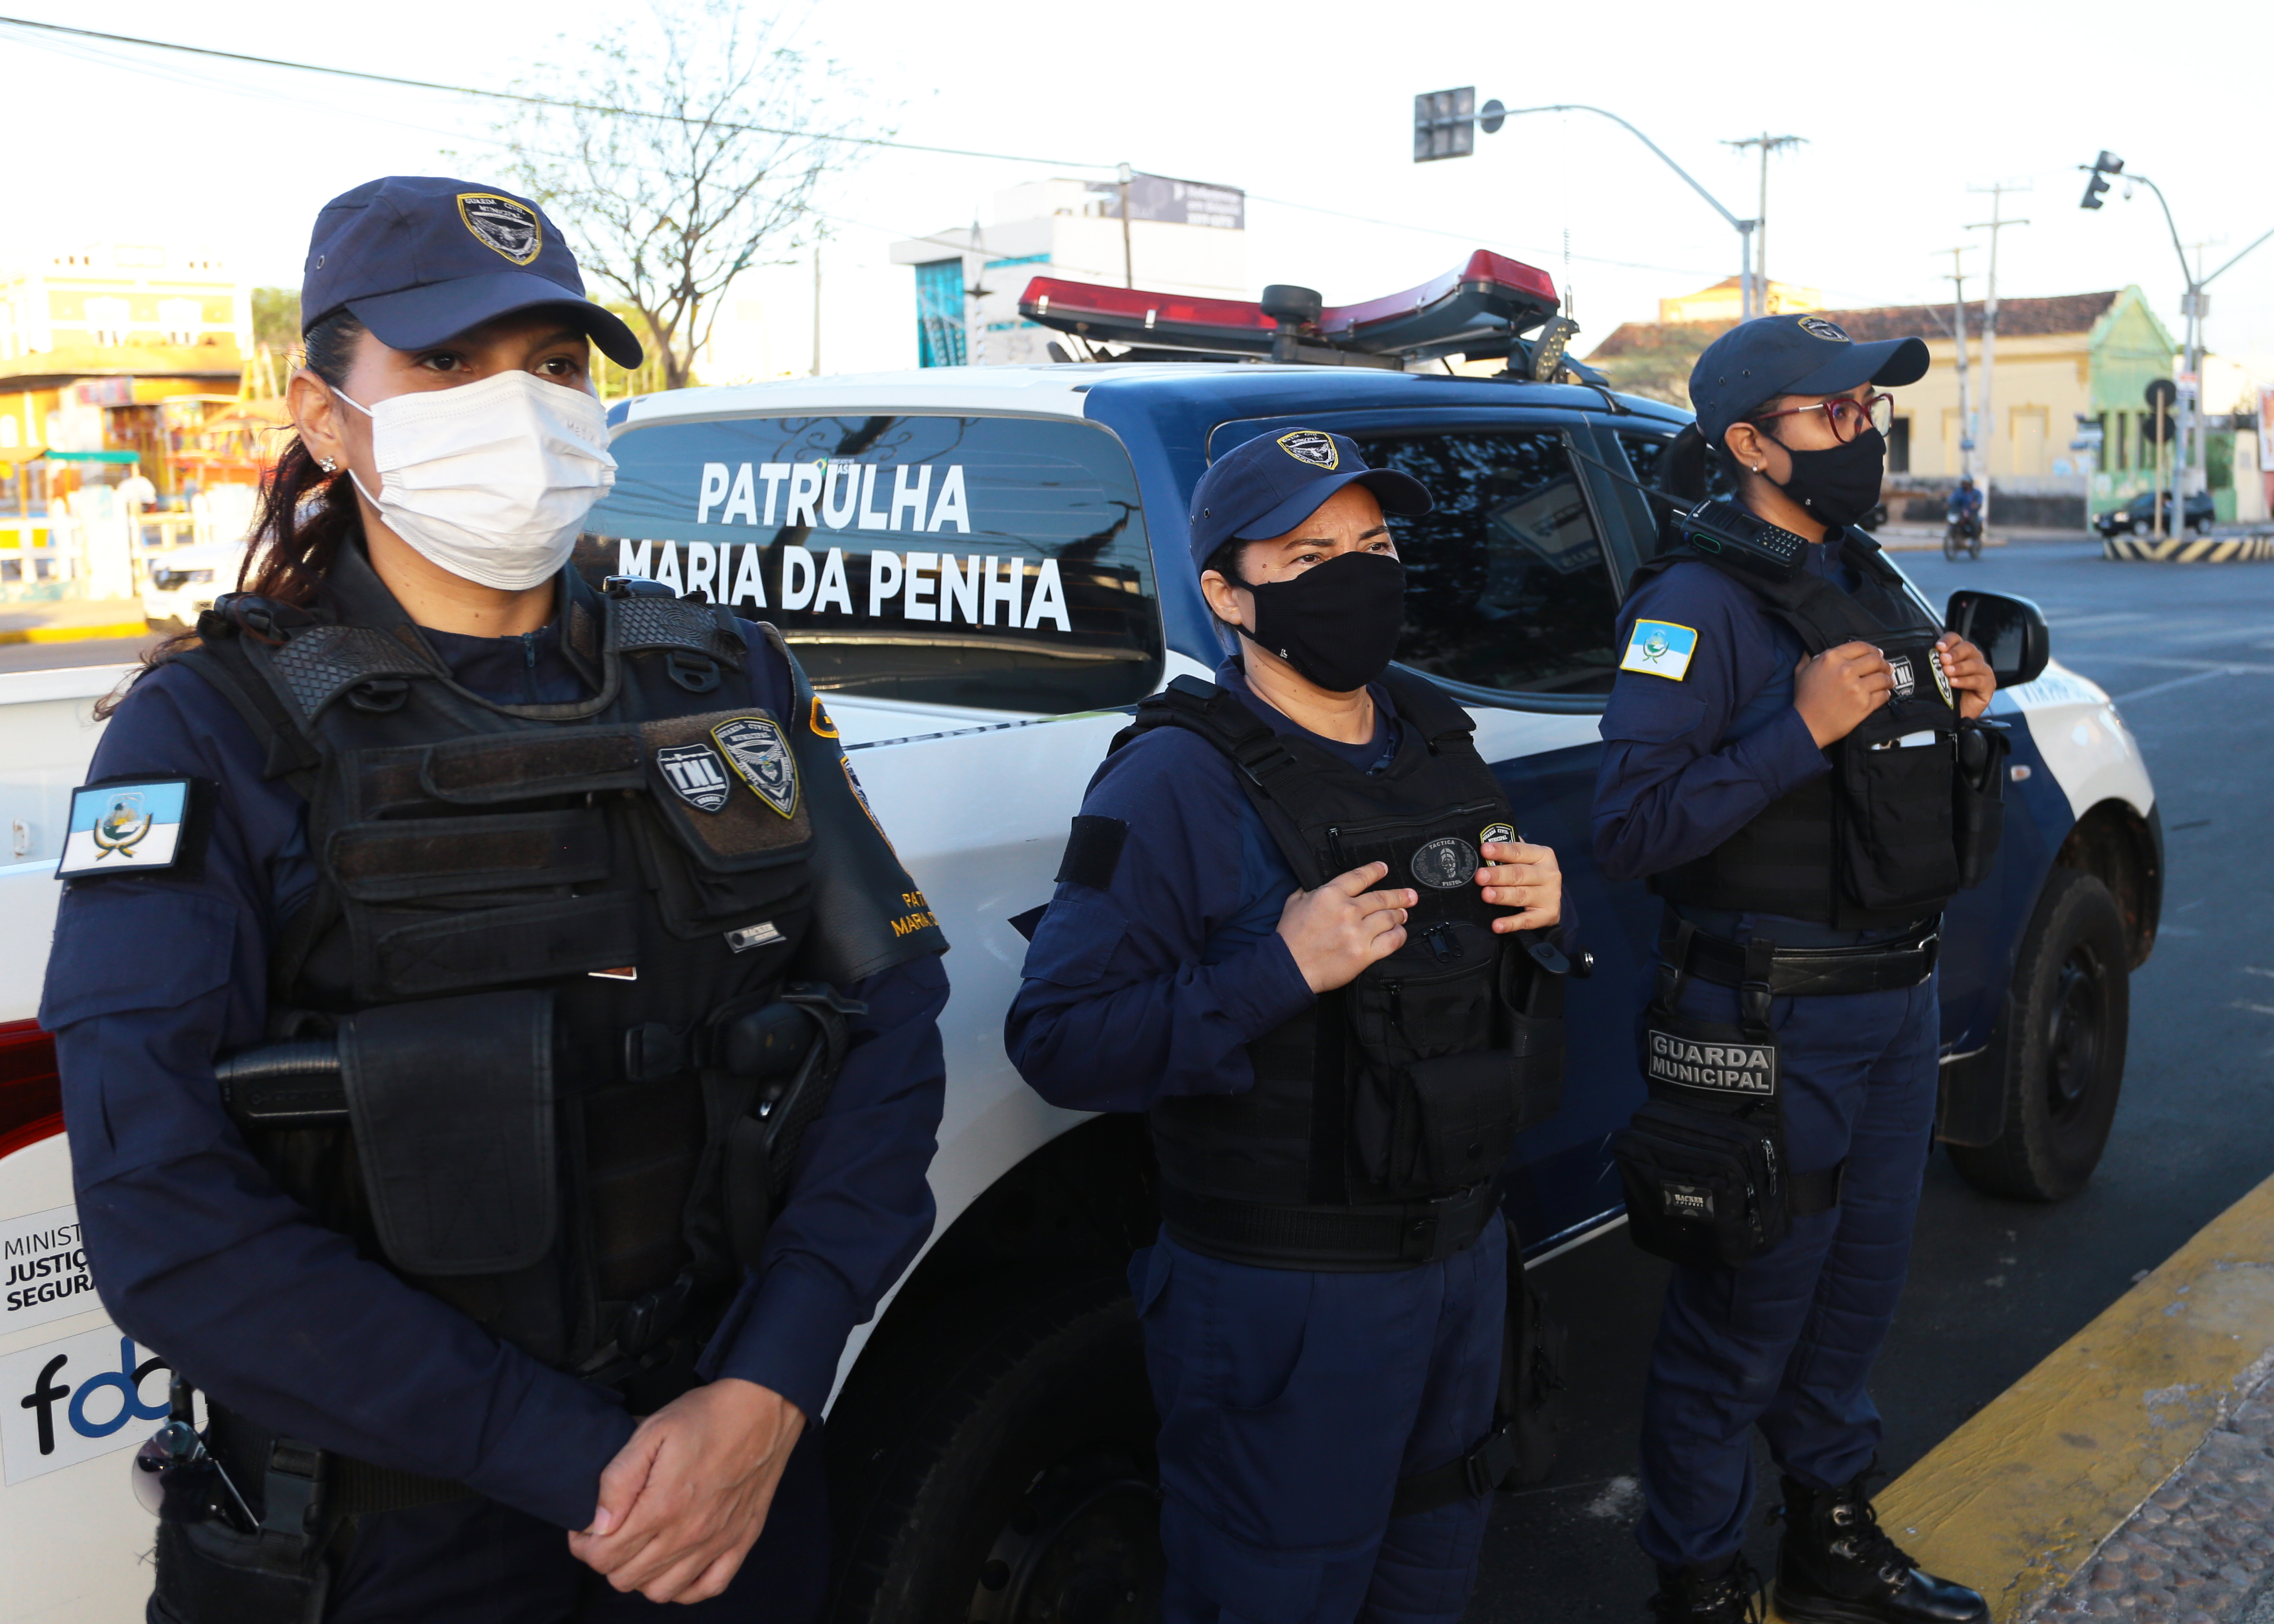
[[[789, 664], [757, 628], [744, 635], [760, 701], [789, 714]], [[553, 628], [428, 641], [487, 698], [587, 696]], [[202, 864], [73, 883], [41, 1003], [105, 1308], [262, 1426], [582, 1528], [600, 1469], [632, 1435], [616, 1394], [357, 1258], [275, 1187], [221, 1108], [214, 1058], [262, 1042], [271, 944], [316, 878], [307, 805], [262, 778], [252, 732], [182, 666], [127, 694], [89, 769], [139, 776], [221, 785]], [[764, 1267], [705, 1353], [705, 1376], [755, 1381], [810, 1417], [935, 1215], [926, 1167], [946, 1092], [946, 973], [921, 958], [850, 994], [869, 1014], [805, 1135]]]

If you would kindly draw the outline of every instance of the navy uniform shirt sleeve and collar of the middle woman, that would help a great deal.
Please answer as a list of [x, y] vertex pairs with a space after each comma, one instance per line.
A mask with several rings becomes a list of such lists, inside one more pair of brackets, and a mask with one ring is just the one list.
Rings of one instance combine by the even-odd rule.
[[[1371, 687], [1376, 737], [1337, 744], [1255, 698], [1235, 662], [1217, 682], [1276, 732], [1353, 767], [1396, 757], [1399, 719]], [[1169, 1094], [1242, 1094], [1246, 1046], [1312, 1005], [1278, 935], [1298, 889], [1233, 764], [1185, 728], [1153, 728], [1105, 757], [1082, 812], [1128, 823], [1103, 892], [1057, 887], [1003, 1021], [1019, 1074], [1053, 1105], [1144, 1110]]]

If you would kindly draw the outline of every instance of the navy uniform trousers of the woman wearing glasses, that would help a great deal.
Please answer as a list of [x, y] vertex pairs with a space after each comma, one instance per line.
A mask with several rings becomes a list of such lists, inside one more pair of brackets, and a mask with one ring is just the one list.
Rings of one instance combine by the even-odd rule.
[[[1737, 994], [1692, 978], [1685, 1014], [1735, 1021]], [[1878, 1453], [1867, 1381], [1894, 1321], [1933, 1146], [1935, 980], [1908, 992], [1776, 999], [1785, 1149], [1796, 1169], [1846, 1162], [1840, 1205], [1796, 1217], [1742, 1269], [1683, 1269], [1667, 1287], [1642, 1406], [1642, 1549], [1712, 1567], [1744, 1547], [1753, 1440], [1790, 1476], [1842, 1488]]]

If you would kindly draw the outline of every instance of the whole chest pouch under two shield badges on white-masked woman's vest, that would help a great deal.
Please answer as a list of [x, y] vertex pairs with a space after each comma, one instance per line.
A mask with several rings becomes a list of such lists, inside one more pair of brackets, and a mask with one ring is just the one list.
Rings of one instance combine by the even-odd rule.
[[664, 928], [694, 942], [800, 908], [814, 821], [787, 730], [750, 707], [644, 721], [639, 739]]

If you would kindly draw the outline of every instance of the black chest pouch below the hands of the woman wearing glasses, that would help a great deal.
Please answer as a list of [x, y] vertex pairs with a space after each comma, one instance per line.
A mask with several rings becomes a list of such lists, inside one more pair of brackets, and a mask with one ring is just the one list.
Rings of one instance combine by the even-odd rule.
[[[1906, 664], [1933, 657], [1890, 646], [1897, 687]], [[1958, 712], [1919, 678], [1840, 741], [1840, 878], [1865, 908], [1933, 912], [1958, 889], [1956, 735]]]

